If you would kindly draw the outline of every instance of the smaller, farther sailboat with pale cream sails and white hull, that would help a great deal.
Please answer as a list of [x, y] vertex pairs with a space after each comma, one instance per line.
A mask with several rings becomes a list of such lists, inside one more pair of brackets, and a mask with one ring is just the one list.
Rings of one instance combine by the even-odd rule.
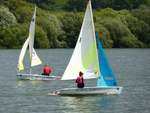
[[[17, 66], [18, 73], [16, 76], [18, 79], [21, 79], [21, 80], [53, 80], [53, 79], [56, 79], [56, 76], [32, 74], [32, 67], [42, 64], [42, 61], [40, 60], [39, 56], [37, 55], [34, 49], [35, 21], [36, 21], [36, 7], [35, 7], [34, 14], [30, 23], [29, 36], [26, 39], [25, 43], [23, 44], [20, 55], [19, 55], [18, 66]], [[27, 48], [29, 48], [30, 71], [29, 73], [21, 73], [21, 71], [24, 70], [23, 61], [24, 61]]]

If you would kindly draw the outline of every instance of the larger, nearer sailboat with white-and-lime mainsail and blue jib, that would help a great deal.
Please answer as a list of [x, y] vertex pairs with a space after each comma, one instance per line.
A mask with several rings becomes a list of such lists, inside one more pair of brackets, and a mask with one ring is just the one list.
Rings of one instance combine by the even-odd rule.
[[74, 52], [61, 79], [76, 79], [80, 71], [84, 73], [84, 79], [97, 78], [97, 85], [94, 87], [59, 89], [54, 91], [53, 94], [74, 96], [121, 93], [122, 87], [117, 85], [117, 80], [108, 64], [98, 33], [95, 34], [90, 0], [87, 4]]

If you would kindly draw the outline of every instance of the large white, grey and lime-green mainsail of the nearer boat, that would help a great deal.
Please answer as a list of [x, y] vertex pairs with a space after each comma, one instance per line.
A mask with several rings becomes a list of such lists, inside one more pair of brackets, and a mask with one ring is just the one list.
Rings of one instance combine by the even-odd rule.
[[78, 41], [70, 62], [62, 76], [62, 80], [76, 79], [80, 71], [84, 73], [85, 79], [96, 78], [95, 72], [99, 74], [95, 29], [90, 0], [86, 8]]

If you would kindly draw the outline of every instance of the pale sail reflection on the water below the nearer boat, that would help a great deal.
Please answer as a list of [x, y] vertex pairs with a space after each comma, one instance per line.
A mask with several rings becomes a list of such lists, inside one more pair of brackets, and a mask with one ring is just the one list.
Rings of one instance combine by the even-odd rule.
[[61, 97], [62, 105], [65, 107], [63, 113], [97, 113], [107, 109], [111, 105], [111, 100], [107, 96], [88, 97]]

